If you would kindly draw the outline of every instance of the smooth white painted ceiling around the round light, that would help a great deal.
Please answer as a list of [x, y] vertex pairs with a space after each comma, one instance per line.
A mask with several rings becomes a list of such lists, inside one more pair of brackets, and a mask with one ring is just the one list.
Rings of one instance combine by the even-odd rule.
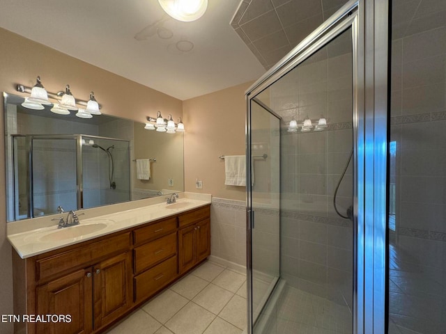
[[265, 72], [229, 24], [239, 3], [209, 0], [203, 17], [179, 22], [157, 0], [1, 0], [0, 26], [187, 100]]

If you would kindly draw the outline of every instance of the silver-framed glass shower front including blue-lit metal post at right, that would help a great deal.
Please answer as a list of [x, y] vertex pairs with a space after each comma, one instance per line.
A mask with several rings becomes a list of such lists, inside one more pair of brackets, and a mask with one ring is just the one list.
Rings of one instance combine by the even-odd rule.
[[387, 7], [366, 15], [373, 2], [346, 3], [246, 93], [249, 333], [384, 333], [387, 54], [367, 45], [387, 50], [370, 25]]

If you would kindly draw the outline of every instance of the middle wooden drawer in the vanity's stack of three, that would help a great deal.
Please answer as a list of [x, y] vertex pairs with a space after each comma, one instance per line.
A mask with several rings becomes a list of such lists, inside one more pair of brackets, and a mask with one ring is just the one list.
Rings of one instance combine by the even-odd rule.
[[176, 255], [176, 232], [134, 248], [134, 273], [148, 269], [167, 257]]

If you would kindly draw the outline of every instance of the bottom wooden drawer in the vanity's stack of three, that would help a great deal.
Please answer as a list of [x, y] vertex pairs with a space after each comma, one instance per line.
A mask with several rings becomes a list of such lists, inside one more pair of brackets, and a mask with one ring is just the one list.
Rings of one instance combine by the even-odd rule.
[[157, 266], [135, 276], [134, 301], [141, 301], [155, 294], [168, 283], [176, 278], [177, 263], [176, 256], [171, 257]]

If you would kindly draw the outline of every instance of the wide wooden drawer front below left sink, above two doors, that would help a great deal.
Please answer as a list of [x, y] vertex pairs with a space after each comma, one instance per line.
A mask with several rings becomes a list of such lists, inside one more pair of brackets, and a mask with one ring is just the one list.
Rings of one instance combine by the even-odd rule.
[[105, 257], [119, 250], [127, 250], [130, 247], [130, 232], [118, 234], [115, 237], [79, 246], [51, 257], [36, 261], [36, 280], [62, 273], [63, 271], [84, 267], [100, 257]]

